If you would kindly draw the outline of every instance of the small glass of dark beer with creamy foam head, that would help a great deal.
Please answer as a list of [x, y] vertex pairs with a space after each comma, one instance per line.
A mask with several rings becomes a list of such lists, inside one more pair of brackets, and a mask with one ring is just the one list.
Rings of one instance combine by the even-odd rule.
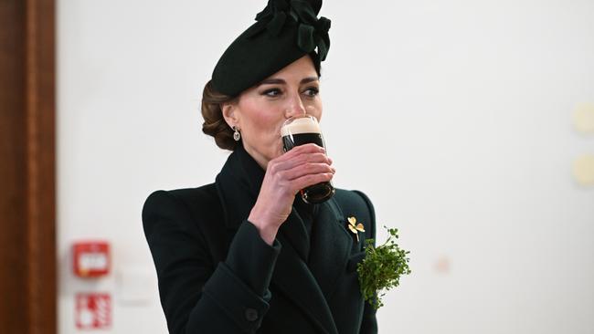
[[[281, 136], [284, 151], [311, 142], [325, 148], [320, 124], [313, 116], [302, 115], [286, 120], [282, 124]], [[313, 184], [302, 189], [300, 193], [303, 202], [319, 204], [329, 200], [334, 195], [334, 186], [330, 182]]]

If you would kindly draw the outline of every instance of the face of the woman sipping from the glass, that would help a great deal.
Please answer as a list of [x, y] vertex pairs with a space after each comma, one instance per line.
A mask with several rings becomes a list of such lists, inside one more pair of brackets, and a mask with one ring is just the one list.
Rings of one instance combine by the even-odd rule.
[[246, 151], [263, 169], [282, 154], [281, 125], [298, 114], [320, 120], [320, 82], [309, 56], [301, 57], [260, 84], [245, 90], [239, 100], [224, 106], [229, 125], [237, 126]]

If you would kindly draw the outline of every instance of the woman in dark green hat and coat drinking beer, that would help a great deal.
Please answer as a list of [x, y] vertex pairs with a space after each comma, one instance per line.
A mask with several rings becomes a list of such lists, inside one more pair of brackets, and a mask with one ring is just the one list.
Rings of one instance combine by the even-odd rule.
[[[355, 270], [375, 237], [372, 204], [341, 189], [304, 203], [297, 193], [331, 181], [332, 161], [314, 144], [281, 149], [284, 120], [322, 117], [330, 21], [316, 17], [320, 7], [270, 0], [228, 47], [202, 112], [203, 130], [233, 152], [215, 183], [157, 191], [144, 204], [171, 333], [377, 333]], [[349, 217], [365, 233], [349, 232]]]

